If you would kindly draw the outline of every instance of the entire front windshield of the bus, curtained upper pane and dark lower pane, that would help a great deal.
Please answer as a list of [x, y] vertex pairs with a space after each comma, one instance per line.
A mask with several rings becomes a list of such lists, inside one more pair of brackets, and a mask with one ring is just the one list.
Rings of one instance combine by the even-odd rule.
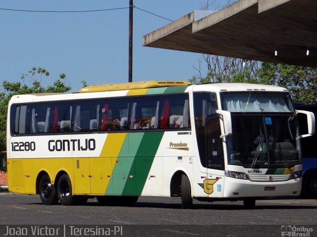
[[232, 119], [228, 164], [290, 167], [302, 162], [298, 120], [287, 92], [223, 92], [221, 102]]

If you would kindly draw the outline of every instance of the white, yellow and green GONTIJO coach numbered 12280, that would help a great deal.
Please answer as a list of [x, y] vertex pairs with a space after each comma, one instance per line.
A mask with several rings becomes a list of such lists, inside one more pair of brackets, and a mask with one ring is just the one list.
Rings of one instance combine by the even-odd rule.
[[[299, 134], [297, 114], [307, 115]], [[129, 205], [139, 196], [203, 201], [299, 196], [300, 138], [313, 113], [288, 91], [240, 83], [144, 81], [13, 96], [9, 191], [45, 204]]]

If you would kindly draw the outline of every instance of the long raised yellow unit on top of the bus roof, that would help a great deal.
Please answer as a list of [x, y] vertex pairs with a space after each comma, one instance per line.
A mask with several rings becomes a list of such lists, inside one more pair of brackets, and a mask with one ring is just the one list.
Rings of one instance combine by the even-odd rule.
[[167, 86], [186, 86], [191, 83], [188, 81], [175, 81], [175, 80], [149, 80], [149, 81], [135, 81], [115, 84], [102, 84], [86, 86], [79, 91], [72, 93], [86, 93], [86, 92], [101, 92], [101, 91], [115, 91], [115, 90], [133, 90], [133, 89], [146, 89], [155, 87]]

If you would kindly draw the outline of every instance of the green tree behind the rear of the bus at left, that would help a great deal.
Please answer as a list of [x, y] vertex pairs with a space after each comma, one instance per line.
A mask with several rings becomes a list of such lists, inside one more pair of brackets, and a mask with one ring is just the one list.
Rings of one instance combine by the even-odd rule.
[[[41, 85], [43, 78], [48, 78], [50, 72], [41, 67], [33, 67], [27, 74], [22, 74], [20, 81], [2, 82], [3, 92], [0, 93], [0, 152], [6, 150], [6, 116], [8, 110], [9, 100], [13, 95], [32, 94], [32, 93], [63, 93], [71, 89], [70, 86], [65, 84], [66, 75], [64, 73], [59, 75], [59, 79], [49, 85], [47, 88]], [[27, 81], [28, 80], [28, 81]], [[63, 81], [62, 81], [63, 80]], [[28, 85], [31, 82], [31, 85]], [[1, 153], [3, 154], [3, 153]], [[0, 157], [0, 170], [5, 170], [6, 162], [5, 156]]]

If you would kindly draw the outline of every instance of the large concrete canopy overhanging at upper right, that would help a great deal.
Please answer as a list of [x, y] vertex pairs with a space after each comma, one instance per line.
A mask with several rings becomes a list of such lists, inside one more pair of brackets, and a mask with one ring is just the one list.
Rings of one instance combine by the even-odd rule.
[[143, 45], [317, 67], [317, 0], [239, 0], [201, 19], [193, 11]]

